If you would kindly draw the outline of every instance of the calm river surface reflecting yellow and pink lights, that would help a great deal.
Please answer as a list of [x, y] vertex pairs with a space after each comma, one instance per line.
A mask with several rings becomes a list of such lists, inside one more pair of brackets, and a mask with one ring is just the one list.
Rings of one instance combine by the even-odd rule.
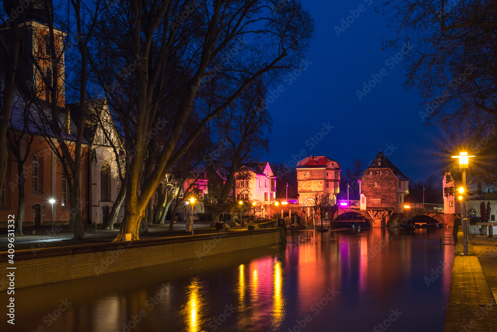
[[331, 231], [16, 290], [13, 331], [438, 332], [454, 254], [443, 232]]

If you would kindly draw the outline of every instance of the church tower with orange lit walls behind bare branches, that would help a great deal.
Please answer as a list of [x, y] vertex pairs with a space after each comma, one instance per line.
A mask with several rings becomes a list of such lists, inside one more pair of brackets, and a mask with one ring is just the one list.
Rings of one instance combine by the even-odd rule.
[[48, 2], [4, 0], [9, 18], [0, 26], [0, 33], [12, 42], [15, 26], [21, 37], [16, 73], [18, 89], [39, 100], [56, 100], [58, 106], [64, 107], [64, 33], [55, 27], [50, 33], [52, 11], [47, 8]]

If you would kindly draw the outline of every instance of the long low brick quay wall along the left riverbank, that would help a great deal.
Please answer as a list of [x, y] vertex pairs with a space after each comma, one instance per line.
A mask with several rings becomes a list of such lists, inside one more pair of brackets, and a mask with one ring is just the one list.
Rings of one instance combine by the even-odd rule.
[[[278, 228], [151, 240], [16, 250], [14, 264], [0, 252], [0, 270], [14, 271], [15, 289], [159, 265], [279, 243]], [[8, 267], [16, 269], [7, 270]], [[9, 287], [0, 278], [0, 291]]]

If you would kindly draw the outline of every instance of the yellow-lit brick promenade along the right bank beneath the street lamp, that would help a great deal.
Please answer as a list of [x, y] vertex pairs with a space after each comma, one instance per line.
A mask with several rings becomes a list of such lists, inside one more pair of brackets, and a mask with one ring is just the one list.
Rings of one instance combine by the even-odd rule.
[[[483, 236], [472, 236], [468, 243], [471, 255], [461, 256], [463, 239], [462, 232], [458, 232], [444, 332], [497, 332], [497, 305], [487, 281], [494, 278], [490, 273], [484, 273], [485, 269], [495, 274], [493, 270], [497, 270], [497, 266], [491, 263], [491, 258], [495, 263], [497, 248], [480, 238]], [[481, 262], [479, 257], [483, 254], [490, 256]], [[496, 281], [492, 280], [492, 283], [495, 286]]]

